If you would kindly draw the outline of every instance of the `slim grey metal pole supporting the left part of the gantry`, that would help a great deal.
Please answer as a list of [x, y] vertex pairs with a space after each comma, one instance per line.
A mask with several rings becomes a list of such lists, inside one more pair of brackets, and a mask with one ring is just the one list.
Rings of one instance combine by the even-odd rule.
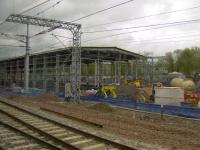
[[26, 54], [25, 54], [25, 92], [29, 91], [29, 24], [27, 24]]

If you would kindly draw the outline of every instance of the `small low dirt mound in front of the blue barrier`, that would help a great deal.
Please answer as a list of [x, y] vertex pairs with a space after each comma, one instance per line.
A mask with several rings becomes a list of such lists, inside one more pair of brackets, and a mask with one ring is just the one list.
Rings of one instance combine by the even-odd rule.
[[97, 103], [97, 104], [94, 104], [92, 106], [89, 106], [90, 109], [94, 109], [94, 110], [97, 110], [97, 111], [101, 111], [101, 112], [113, 112], [113, 108], [110, 107], [108, 104], [105, 104], [105, 103]]

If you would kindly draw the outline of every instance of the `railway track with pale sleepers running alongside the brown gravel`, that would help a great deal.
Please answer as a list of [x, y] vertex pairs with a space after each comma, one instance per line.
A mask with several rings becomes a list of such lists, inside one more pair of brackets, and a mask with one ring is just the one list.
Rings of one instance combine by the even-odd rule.
[[[67, 126], [47, 116], [28, 111], [0, 100], [0, 125], [7, 124], [47, 149], [72, 150], [135, 150], [135, 148]], [[3, 118], [3, 119], [2, 119]], [[0, 139], [1, 140], [1, 139]], [[40, 140], [40, 141], [38, 141]], [[26, 148], [25, 148], [26, 149]]]

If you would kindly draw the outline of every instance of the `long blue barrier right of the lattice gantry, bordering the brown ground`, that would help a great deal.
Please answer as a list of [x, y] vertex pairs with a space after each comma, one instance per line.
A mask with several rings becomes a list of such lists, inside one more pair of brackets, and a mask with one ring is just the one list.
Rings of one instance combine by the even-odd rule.
[[81, 99], [86, 101], [104, 102], [116, 106], [138, 109], [142, 111], [157, 112], [157, 113], [160, 113], [162, 111], [164, 114], [200, 119], [200, 108], [164, 105], [161, 109], [161, 105], [158, 104], [143, 103], [137, 100], [123, 99], [123, 98], [113, 99], [110, 97], [103, 98], [97, 96], [82, 96]]

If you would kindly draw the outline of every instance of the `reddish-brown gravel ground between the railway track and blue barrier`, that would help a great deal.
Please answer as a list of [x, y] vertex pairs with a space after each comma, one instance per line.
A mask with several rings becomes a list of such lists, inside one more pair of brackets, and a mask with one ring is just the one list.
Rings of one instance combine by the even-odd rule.
[[[117, 137], [126, 138], [129, 142], [132, 141], [134, 145], [140, 145], [140, 148], [142, 148], [141, 145], [150, 145], [150, 147], [154, 145], [153, 149], [155, 147], [161, 149], [160, 146], [173, 150], [200, 149], [199, 120], [170, 116], [164, 116], [164, 120], [162, 120], [159, 114], [111, 106], [105, 106], [107, 109], [102, 109], [102, 105], [101, 109], [98, 109], [97, 106], [93, 107], [93, 103], [63, 102], [47, 94], [33, 97], [9, 96], [7, 98], [27, 106], [45, 107], [101, 124], [103, 129], [98, 129], [98, 132], [114, 133], [113, 135]], [[95, 129], [95, 131], [97, 130]]]

